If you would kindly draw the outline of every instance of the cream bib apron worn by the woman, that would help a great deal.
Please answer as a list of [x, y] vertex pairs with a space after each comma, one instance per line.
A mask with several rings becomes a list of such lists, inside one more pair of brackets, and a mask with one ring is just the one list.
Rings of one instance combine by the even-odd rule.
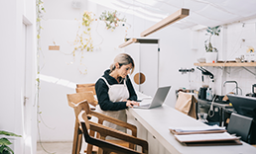
[[[101, 77], [108, 86], [108, 96], [111, 102], [122, 102], [123, 100], [127, 100], [129, 98], [129, 91], [126, 86], [126, 80], [124, 80], [124, 84], [114, 84], [114, 85], [109, 85], [107, 80], [104, 77]], [[127, 122], [127, 116], [126, 116], [126, 111], [125, 110], [120, 110], [120, 111], [102, 111], [99, 107], [97, 106], [97, 111], [101, 114], [104, 114], [106, 116], [111, 116], [117, 119], [120, 119], [122, 121]], [[114, 123], [110, 123], [108, 121], [103, 122], [104, 125], [126, 132], [126, 128], [121, 127], [119, 125], [116, 125]]]

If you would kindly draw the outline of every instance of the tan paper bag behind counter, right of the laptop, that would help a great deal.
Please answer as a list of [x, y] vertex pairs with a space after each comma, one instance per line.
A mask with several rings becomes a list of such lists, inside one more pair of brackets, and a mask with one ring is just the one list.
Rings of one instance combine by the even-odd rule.
[[196, 118], [195, 103], [197, 103], [197, 100], [193, 97], [192, 94], [180, 92], [175, 109], [188, 116]]

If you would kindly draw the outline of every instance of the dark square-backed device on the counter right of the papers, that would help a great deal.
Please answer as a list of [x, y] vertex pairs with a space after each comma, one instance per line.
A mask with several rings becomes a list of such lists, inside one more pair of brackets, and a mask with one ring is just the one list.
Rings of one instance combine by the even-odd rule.
[[232, 113], [227, 125], [227, 131], [229, 133], [235, 133], [237, 136], [241, 136], [243, 141], [248, 141], [252, 120], [252, 117]]

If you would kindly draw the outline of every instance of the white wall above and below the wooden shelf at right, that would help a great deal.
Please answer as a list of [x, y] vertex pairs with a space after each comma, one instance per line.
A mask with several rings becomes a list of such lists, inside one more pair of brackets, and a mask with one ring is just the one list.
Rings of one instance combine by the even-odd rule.
[[[240, 21], [233, 24], [228, 24], [221, 28], [221, 34], [219, 37], [214, 37], [212, 43], [218, 48], [219, 60], [234, 60], [235, 57], [245, 55], [249, 46], [256, 48], [256, 19]], [[223, 37], [225, 33], [225, 37]], [[203, 41], [207, 39], [205, 37], [205, 30], [198, 32], [198, 54], [196, 58], [204, 57], [204, 45]], [[245, 39], [245, 41], [242, 41]], [[194, 61], [195, 62], [195, 61]], [[235, 92], [235, 84], [226, 84], [223, 87], [225, 81], [237, 81], [238, 86], [242, 89], [242, 95], [245, 96], [251, 93], [252, 84], [255, 84], [256, 69], [255, 67], [245, 67], [254, 74], [248, 72], [242, 67], [227, 67], [224, 69], [218, 67], [205, 67], [214, 74], [215, 93], [218, 95], [225, 95], [229, 92]], [[198, 72], [198, 70], [196, 70]], [[194, 73], [195, 74], [195, 73]], [[200, 73], [199, 73], [200, 75]], [[200, 83], [200, 82], [198, 82]], [[200, 83], [201, 84], [201, 83]], [[239, 91], [240, 94], [240, 91]]]

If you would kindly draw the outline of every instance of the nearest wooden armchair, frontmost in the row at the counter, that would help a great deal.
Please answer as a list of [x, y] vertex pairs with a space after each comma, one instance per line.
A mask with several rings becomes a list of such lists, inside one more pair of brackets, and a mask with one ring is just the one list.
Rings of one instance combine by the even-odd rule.
[[[91, 145], [95, 145], [98, 146], [99, 148], [102, 149], [103, 154], [109, 154], [111, 152], [115, 152], [118, 154], [139, 154], [139, 153], [148, 153], [148, 142], [146, 140], [137, 138], [133, 135], [129, 135], [127, 133], [121, 132], [119, 130], [104, 126], [102, 124], [99, 123], [95, 123], [92, 121], [88, 121], [87, 118], [87, 113], [86, 112], [90, 112], [90, 110], [88, 110], [88, 104], [86, 101], [83, 101], [77, 105], [75, 105], [73, 107], [74, 109], [74, 113], [76, 116], [76, 119], [80, 122], [81, 127], [82, 127], [82, 132], [84, 135], [84, 139], [85, 142], [87, 142], [88, 144]], [[95, 114], [95, 113], [91, 113], [91, 114]], [[107, 116], [105, 116], [104, 118], [107, 118]], [[113, 119], [111, 119], [112, 117], [109, 117], [110, 121], [112, 121]], [[91, 135], [88, 130], [92, 131], [96, 131], [100, 134], [100, 138], [95, 138], [93, 135]], [[108, 142], [106, 140], [103, 140], [106, 136], [112, 136], [121, 140], [125, 140], [137, 145], [140, 145], [142, 147], [142, 152], [139, 151], [135, 151], [134, 147], [132, 148], [127, 148], [127, 147], [123, 147], [120, 146], [118, 144], [114, 144], [111, 142]]]

